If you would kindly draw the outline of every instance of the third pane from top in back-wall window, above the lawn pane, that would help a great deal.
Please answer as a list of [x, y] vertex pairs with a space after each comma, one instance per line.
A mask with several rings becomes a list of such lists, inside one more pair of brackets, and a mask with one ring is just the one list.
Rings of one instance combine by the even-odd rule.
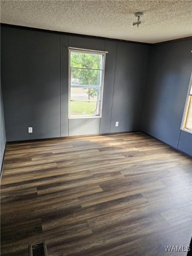
[[100, 88], [71, 87], [71, 100], [100, 100]]

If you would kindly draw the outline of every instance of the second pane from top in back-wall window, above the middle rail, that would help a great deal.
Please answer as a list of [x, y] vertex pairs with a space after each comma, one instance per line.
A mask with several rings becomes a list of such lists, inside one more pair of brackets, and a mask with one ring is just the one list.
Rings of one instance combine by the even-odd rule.
[[71, 85], [101, 87], [101, 75], [100, 70], [71, 68]]

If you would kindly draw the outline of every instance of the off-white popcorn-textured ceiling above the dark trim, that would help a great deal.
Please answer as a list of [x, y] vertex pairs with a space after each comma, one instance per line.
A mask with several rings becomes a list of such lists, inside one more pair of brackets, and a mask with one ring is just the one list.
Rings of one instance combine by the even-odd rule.
[[[134, 13], [146, 25], [131, 27]], [[192, 35], [189, 1], [1, 1], [1, 22], [77, 34], [157, 43]]]

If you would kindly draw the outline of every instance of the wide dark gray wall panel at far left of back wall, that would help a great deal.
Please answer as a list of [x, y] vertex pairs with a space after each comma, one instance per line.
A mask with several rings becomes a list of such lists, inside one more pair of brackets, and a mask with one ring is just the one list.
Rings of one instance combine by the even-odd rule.
[[7, 141], [61, 136], [59, 34], [1, 27], [1, 86]]

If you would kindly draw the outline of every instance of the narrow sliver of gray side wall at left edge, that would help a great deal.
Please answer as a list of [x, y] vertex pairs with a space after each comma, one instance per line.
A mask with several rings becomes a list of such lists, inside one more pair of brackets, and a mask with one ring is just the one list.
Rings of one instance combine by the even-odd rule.
[[6, 135], [5, 135], [5, 123], [4, 123], [4, 113], [3, 113], [3, 99], [1, 93], [1, 86], [0, 86], [0, 168], [3, 162], [3, 155], [5, 150], [6, 144]]

